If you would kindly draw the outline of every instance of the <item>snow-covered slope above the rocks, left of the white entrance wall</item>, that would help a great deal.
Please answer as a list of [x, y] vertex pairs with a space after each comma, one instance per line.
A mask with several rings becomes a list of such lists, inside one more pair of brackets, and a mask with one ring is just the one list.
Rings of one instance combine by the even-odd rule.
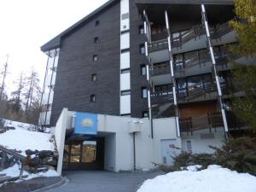
[[55, 149], [55, 144], [49, 142], [52, 137], [49, 133], [30, 131], [32, 125], [15, 121], [7, 120], [6, 125], [15, 127], [15, 130], [0, 134], [0, 145], [6, 148], [21, 150], [23, 155], [26, 155], [26, 149], [38, 149], [39, 151]]

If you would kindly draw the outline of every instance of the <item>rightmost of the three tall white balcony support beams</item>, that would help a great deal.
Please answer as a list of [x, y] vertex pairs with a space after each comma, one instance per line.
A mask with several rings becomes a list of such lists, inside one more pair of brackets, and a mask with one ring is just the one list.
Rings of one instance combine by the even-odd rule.
[[210, 35], [210, 30], [209, 30], [208, 21], [207, 21], [207, 14], [206, 14], [206, 9], [205, 9], [204, 4], [201, 4], [201, 15], [202, 15], [203, 25], [205, 26], [205, 29], [206, 29], [207, 43], [208, 43], [208, 47], [209, 47], [209, 50], [210, 50], [210, 55], [211, 55], [211, 58], [212, 58], [212, 73], [215, 77], [216, 84], [217, 84], [218, 104], [219, 104], [219, 107], [221, 109], [222, 118], [223, 118], [223, 122], [224, 122], [225, 137], [226, 137], [226, 139], [228, 139], [228, 134], [227, 133], [229, 132], [229, 128], [228, 128], [228, 124], [227, 124], [226, 114], [225, 114], [225, 111], [224, 111], [224, 102], [223, 102], [223, 99], [222, 99], [222, 91], [221, 91], [219, 78], [218, 78], [218, 69], [217, 69], [217, 66], [216, 66], [216, 61], [215, 61], [214, 52], [213, 52], [213, 48], [212, 48], [211, 35]]

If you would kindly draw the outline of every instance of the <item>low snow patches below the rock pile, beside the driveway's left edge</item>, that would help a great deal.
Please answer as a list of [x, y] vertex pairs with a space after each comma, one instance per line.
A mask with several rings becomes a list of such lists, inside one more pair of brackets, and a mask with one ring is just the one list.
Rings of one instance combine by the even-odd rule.
[[[0, 172], [0, 174], [6, 174], [6, 176], [9, 176], [9, 177], [19, 177], [20, 167], [17, 164], [15, 164], [12, 167], [4, 169], [2, 172]], [[28, 177], [23, 178], [25, 180], [32, 179], [35, 177], [59, 177], [59, 174], [54, 170], [49, 170], [47, 172], [39, 172], [36, 174], [29, 174], [28, 172], [24, 171], [23, 176], [26, 176], [26, 175], [28, 175]]]

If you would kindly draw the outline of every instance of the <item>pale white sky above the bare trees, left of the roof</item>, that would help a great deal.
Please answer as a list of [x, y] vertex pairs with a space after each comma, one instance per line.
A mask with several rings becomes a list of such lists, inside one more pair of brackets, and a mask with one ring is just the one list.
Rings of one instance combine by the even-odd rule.
[[20, 73], [28, 74], [32, 67], [38, 71], [43, 86], [47, 56], [40, 47], [106, 2], [108, 0], [1, 1], [0, 70], [9, 55], [8, 93], [15, 90], [15, 80]]

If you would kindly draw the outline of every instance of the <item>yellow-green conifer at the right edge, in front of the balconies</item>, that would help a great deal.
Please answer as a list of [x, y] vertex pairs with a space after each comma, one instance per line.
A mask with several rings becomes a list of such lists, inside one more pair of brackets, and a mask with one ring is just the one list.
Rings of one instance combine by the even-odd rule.
[[[230, 26], [237, 33], [238, 44], [230, 46], [230, 51], [253, 57], [256, 53], [256, 0], [235, 0], [235, 11], [239, 19], [231, 20]], [[249, 66], [234, 63], [232, 74], [235, 83], [246, 93], [245, 97], [233, 99], [232, 109], [256, 131], [256, 63]]]

